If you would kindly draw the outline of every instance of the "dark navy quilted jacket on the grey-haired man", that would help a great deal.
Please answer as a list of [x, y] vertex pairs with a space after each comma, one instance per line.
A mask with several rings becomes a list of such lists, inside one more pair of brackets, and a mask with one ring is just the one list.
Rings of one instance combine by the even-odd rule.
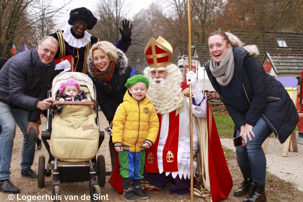
[[37, 104], [47, 97], [55, 61], [42, 69], [33, 60], [33, 52], [30, 49], [19, 53], [5, 63], [0, 71], [0, 101], [29, 110], [28, 121], [36, 122], [41, 113]]

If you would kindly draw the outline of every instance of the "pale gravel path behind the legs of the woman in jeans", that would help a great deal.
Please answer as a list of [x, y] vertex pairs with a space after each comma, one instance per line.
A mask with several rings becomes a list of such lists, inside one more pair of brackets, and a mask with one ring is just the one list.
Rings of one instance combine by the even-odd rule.
[[[222, 146], [235, 151], [230, 138], [221, 138]], [[268, 141], [266, 162], [267, 171], [275, 174], [281, 180], [291, 182], [303, 191], [303, 145], [298, 144], [298, 152], [288, 151], [288, 157], [282, 157], [283, 144], [278, 138], [271, 137]]]

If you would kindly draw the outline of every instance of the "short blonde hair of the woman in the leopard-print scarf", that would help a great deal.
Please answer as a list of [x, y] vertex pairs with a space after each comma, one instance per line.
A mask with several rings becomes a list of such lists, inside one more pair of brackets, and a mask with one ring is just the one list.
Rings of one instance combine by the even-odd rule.
[[93, 52], [95, 50], [103, 50], [105, 55], [110, 58], [112, 61], [117, 62], [118, 60], [118, 49], [108, 41], [99, 41], [98, 43], [95, 43], [92, 48], [89, 50], [89, 56], [94, 59]]

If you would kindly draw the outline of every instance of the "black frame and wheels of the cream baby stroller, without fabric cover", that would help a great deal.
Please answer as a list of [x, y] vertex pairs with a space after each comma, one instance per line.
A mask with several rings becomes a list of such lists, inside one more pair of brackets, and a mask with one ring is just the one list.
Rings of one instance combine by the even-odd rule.
[[[71, 73], [71, 72], [69, 72]], [[81, 74], [81, 73], [77, 73]], [[86, 76], [86, 75], [85, 75]], [[95, 86], [94, 86], [95, 90]], [[48, 89], [48, 98], [52, 97], [51, 89]], [[99, 119], [98, 119], [98, 103], [95, 100], [94, 102], [96, 118], [95, 122], [99, 127]], [[39, 157], [38, 163], [38, 187], [43, 188], [45, 186], [45, 176], [49, 177], [53, 174], [52, 179], [52, 194], [54, 197], [54, 202], [60, 201], [56, 195], [60, 195], [60, 182], [81, 182], [81, 181], [89, 181], [90, 187], [90, 197], [91, 201], [101, 201], [94, 200], [93, 195], [98, 194], [101, 195], [101, 187], [105, 185], [105, 159], [103, 155], [99, 155], [98, 159], [93, 157], [91, 160], [82, 161], [82, 162], [70, 162], [70, 161], [62, 161], [51, 154], [50, 145], [47, 140], [51, 139], [52, 133], [52, 121], [54, 118], [55, 112], [49, 108], [47, 110], [46, 117], [46, 130], [41, 132], [41, 139], [43, 144], [45, 145], [46, 150], [48, 151], [49, 158], [47, 161], [47, 165], [45, 167], [45, 157]], [[104, 131], [99, 131], [99, 140], [98, 140], [98, 149], [100, 148], [102, 142], [104, 140]], [[54, 163], [52, 163], [54, 161]], [[71, 170], [71, 167], [73, 170]], [[80, 175], [79, 175], [80, 173]], [[82, 174], [82, 176], [81, 176]], [[97, 179], [96, 179], [97, 175]]]

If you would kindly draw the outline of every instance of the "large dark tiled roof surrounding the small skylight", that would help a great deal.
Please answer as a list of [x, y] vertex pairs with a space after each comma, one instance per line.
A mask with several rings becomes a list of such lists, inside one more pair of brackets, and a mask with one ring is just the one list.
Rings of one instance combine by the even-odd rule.
[[[229, 30], [229, 32], [238, 36], [245, 45], [257, 45], [260, 55], [256, 59], [259, 62], [262, 61], [266, 52], [269, 54], [303, 54], [303, 33], [266, 32], [263, 36], [259, 37], [257, 34], [248, 31]], [[284, 40], [288, 48], [278, 48], [276, 40]]]

